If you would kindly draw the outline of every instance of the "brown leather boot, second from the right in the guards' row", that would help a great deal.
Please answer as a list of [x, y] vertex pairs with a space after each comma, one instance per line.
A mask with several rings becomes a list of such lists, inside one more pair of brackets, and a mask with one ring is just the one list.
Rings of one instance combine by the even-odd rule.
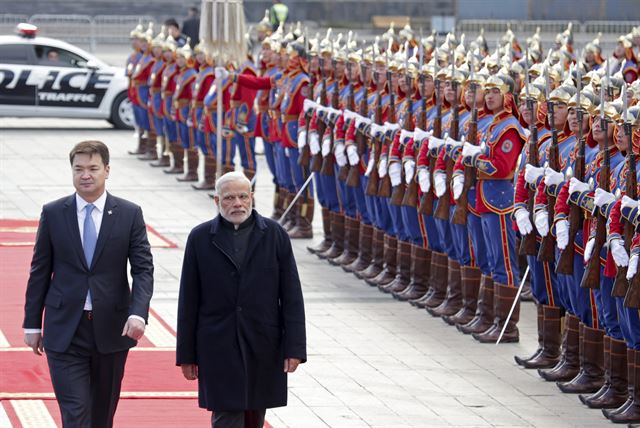
[[580, 395], [580, 401], [591, 409], [615, 409], [627, 401], [627, 345], [605, 336], [604, 354], [604, 385], [593, 395]]

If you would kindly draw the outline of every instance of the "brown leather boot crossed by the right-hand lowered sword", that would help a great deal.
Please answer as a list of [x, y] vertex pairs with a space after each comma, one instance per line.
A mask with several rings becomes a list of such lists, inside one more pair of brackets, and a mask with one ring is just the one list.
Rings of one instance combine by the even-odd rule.
[[513, 310], [513, 314], [507, 322], [509, 311], [518, 294], [516, 287], [509, 287], [504, 284], [494, 284], [494, 298], [493, 298], [493, 311], [495, 314], [494, 325], [495, 328], [489, 328], [484, 333], [474, 333], [473, 338], [480, 343], [496, 343], [502, 327], [505, 325], [507, 328], [504, 330], [504, 335], [500, 340], [500, 343], [516, 343], [520, 340], [520, 334], [518, 332], [518, 321], [520, 320], [520, 301], [516, 302], [516, 306]]

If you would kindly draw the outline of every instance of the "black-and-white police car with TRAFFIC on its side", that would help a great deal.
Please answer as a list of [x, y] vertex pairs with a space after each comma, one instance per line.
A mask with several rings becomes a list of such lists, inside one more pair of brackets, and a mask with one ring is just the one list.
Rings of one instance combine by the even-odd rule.
[[0, 117], [106, 119], [133, 128], [127, 77], [88, 52], [19, 24], [0, 36]]

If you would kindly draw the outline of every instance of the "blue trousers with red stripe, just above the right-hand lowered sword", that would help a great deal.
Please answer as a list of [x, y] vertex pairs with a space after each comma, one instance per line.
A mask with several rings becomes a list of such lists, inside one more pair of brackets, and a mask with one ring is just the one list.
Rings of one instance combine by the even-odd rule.
[[509, 287], [519, 286], [516, 234], [511, 225], [511, 216], [483, 213], [480, 217], [493, 281]]

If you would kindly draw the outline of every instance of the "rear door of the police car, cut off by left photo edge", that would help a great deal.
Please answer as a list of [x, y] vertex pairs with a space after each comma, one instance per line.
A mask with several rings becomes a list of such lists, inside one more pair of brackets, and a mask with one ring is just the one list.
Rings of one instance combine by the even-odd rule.
[[0, 111], [33, 109], [37, 88], [31, 83], [33, 47], [25, 43], [0, 45]]

